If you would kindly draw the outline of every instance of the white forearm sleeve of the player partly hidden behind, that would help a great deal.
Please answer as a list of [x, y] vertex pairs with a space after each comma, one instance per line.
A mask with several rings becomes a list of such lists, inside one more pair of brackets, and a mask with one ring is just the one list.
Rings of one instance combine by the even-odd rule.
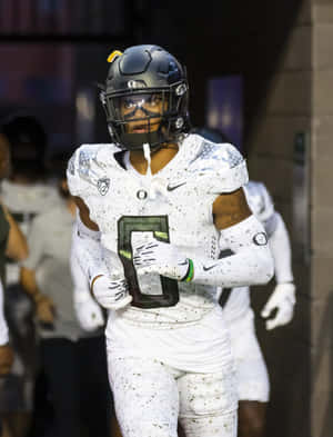
[[270, 238], [270, 247], [275, 265], [275, 280], [278, 284], [292, 282], [292, 252], [289, 234], [280, 213], [275, 212], [276, 228]]

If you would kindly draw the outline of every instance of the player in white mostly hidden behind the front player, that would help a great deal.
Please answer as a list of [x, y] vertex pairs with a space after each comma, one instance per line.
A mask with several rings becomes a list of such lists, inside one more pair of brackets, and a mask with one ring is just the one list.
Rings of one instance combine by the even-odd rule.
[[[212, 128], [195, 128], [192, 132], [216, 142], [228, 141], [223, 132]], [[295, 285], [287, 229], [263, 182], [251, 180], [244, 187], [248, 203], [262, 222], [274, 258], [276, 287], [261, 311], [268, 330], [287, 325], [294, 314]], [[223, 244], [221, 241], [221, 248]], [[228, 255], [228, 247], [222, 256]], [[249, 287], [220, 289], [220, 302], [230, 329], [232, 349], [236, 360], [239, 387], [239, 437], [262, 437], [270, 398], [268, 368], [255, 335], [254, 314]], [[275, 311], [273, 317], [272, 312]]]

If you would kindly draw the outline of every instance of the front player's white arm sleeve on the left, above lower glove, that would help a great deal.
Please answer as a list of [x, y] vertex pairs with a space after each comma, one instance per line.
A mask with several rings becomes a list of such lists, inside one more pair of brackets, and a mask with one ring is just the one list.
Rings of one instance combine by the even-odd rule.
[[72, 257], [77, 257], [89, 282], [98, 275], [108, 275], [101, 246], [101, 234], [87, 228], [77, 217], [77, 231], [72, 236]]

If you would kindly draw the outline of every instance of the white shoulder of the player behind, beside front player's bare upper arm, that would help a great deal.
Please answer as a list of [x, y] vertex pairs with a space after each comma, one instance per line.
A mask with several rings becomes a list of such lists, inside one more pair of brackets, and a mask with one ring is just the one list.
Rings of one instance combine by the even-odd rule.
[[244, 191], [252, 212], [260, 221], [266, 221], [274, 215], [274, 203], [264, 183], [250, 180]]

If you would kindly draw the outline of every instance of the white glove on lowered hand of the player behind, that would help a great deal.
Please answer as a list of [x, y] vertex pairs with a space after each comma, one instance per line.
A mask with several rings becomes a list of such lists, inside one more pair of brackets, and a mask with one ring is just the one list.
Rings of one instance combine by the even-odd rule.
[[261, 316], [268, 318], [275, 308], [278, 309], [276, 316], [273, 319], [266, 320], [266, 329], [271, 330], [276, 328], [276, 326], [289, 324], [294, 315], [295, 302], [295, 286], [291, 282], [278, 284], [261, 311]]

